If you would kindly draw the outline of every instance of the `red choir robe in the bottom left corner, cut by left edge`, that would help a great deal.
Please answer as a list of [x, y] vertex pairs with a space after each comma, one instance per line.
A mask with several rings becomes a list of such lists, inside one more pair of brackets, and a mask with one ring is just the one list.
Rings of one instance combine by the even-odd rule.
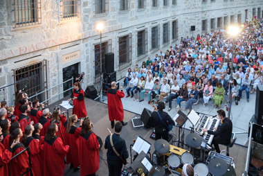
[[8, 176], [8, 163], [12, 158], [12, 152], [0, 143], [0, 175]]

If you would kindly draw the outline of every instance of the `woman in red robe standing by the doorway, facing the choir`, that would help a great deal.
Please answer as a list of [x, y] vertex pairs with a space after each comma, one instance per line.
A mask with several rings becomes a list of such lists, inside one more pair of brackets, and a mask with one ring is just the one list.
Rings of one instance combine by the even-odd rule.
[[80, 82], [74, 83], [74, 89], [71, 94], [69, 101], [73, 100], [73, 111], [72, 114], [76, 114], [78, 118], [86, 117], [87, 111], [85, 107], [84, 91], [81, 89]]

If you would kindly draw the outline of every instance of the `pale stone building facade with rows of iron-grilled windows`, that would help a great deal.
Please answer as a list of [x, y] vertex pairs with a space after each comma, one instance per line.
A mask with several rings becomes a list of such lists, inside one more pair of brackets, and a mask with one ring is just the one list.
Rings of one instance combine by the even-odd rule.
[[181, 37], [261, 18], [262, 10], [262, 0], [1, 0], [0, 87], [7, 87], [0, 99], [12, 104], [15, 91], [25, 88], [52, 103], [71, 87], [63, 82], [81, 72], [83, 89], [98, 85], [98, 22], [105, 26], [102, 58], [114, 53], [118, 80]]

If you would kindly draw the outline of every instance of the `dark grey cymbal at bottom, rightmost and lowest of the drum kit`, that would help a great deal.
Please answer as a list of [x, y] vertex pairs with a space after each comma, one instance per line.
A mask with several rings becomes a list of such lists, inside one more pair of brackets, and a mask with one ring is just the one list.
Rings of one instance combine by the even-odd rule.
[[212, 175], [221, 176], [224, 175], [228, 170], [228, 165], [224, 159], [214, 158], [209, 162], [208, 170], [210, 173], [212, 173]]

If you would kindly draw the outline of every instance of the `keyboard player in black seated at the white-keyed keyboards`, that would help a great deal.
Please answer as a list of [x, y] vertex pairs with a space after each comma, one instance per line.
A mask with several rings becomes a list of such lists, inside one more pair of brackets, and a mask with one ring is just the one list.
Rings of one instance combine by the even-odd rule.
[[217, 116], [221, 120], [221, 126], [214, 127], [215, 131], [207, 130], [206, 128], [202, 128], [203, 132], [208, 132], [208, 134], [214, 135], [212, 139], [212, 144], [215, 146], [215, 150], [220, 152], [219, 144], [228, 145], [230, 143], [231, 135], [232, 135], [232, 121], [229, 118], [226, 118], [226, 112], [223, 109], [219, 109], [217, 111]]

